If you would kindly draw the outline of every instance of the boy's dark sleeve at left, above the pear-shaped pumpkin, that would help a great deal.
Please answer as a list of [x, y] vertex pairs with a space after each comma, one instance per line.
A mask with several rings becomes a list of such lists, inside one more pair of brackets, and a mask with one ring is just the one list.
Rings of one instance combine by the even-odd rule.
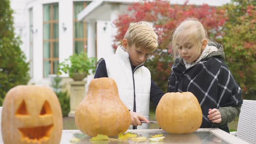
[[94, 79], [103, 77], [108, 77], [106, 62], [104, 59], [98, 61]]

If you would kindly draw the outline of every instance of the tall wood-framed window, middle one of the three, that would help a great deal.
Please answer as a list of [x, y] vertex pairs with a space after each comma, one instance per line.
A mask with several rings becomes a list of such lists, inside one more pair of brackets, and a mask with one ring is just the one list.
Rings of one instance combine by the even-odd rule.
[[57, 74], [59, 65], [59, 4], [43, 5], [43, 77]]

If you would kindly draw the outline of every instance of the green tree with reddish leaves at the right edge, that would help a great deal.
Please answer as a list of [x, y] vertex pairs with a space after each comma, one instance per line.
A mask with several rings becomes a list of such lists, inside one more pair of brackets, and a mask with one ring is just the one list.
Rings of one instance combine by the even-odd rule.
[[224, 46], [226, 62], [243, 90], [243, 98], [256, 99], [256, 1], [233, 0], [226, 9]]

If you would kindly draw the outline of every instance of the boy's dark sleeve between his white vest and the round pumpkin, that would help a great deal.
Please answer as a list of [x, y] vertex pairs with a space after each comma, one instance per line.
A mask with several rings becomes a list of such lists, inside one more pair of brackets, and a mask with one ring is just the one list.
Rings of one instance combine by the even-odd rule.
[[153, 102], [154, 105], [158, 105], [163, 95], [164, 92], [162, 92], [157, 84], [151, 79], [150, 101]]

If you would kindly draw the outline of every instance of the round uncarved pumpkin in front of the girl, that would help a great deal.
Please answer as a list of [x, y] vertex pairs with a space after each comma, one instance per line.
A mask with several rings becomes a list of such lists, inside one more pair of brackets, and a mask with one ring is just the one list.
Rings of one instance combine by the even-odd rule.
[[191, 92], [171, 92], [160, 99], [156, 119], [164, 131], [186, 134], [200, 128], [203, 114], [197, 98]]

